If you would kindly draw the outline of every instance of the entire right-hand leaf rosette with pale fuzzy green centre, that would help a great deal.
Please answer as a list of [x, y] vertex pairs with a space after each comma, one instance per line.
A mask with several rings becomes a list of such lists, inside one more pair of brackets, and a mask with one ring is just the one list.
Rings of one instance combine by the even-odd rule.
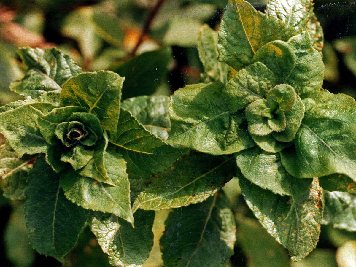
[[[309, 0], [269, 1], [265, 13], [231, 0], [218, 39], [207, 27], [197, 45], [202, 77], [209, 79], [173, 94], [167, 141], [212, 155], [234, 153], [251, 210], [300, 260], [315, 247], [322, 222], [322, 190], [312, 178], [327, 190], [353, 192], [356, 102], [322, 90], [323, 33]], [[212, 67], [214, 47], [219, 64]], [[285, 214], [277, 214], [280, 205]]]

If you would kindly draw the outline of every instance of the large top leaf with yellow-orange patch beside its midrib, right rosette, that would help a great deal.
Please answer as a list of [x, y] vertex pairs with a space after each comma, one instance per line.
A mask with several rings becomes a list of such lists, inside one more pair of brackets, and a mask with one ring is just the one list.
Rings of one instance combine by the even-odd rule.
[[281, 20], [257, 11], [244, 0], [230, 0], [220, 25], [219, 61], [240, 70], [252, 63], [255, 53], [266, 43], [287, 42], [294, 35], [294, 28]]

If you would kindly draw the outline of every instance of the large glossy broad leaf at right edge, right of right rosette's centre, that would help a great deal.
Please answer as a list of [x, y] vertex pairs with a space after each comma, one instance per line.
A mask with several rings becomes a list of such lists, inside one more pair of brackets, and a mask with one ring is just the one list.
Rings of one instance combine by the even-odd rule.
[[305, 101], [305, 109], [295, 146], [281, 152], [287, 172], [295, 177], [340, 173], [356, 181], [355, 100], [324, 90]]

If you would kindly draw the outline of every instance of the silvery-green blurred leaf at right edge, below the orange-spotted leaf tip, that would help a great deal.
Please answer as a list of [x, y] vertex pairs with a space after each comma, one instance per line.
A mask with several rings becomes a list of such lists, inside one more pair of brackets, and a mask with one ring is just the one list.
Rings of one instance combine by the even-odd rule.
[[323, 192], [323, 224], [356, 231], [356, 195], [347, 192]]

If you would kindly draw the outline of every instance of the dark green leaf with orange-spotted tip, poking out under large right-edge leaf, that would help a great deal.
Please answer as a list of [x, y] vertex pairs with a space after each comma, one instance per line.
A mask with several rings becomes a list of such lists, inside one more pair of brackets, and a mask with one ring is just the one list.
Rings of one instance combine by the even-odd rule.
[[333, 173], [319, 177], [320, 186], [327, 191], [356, 193], [355, 181], [345, 174]]

